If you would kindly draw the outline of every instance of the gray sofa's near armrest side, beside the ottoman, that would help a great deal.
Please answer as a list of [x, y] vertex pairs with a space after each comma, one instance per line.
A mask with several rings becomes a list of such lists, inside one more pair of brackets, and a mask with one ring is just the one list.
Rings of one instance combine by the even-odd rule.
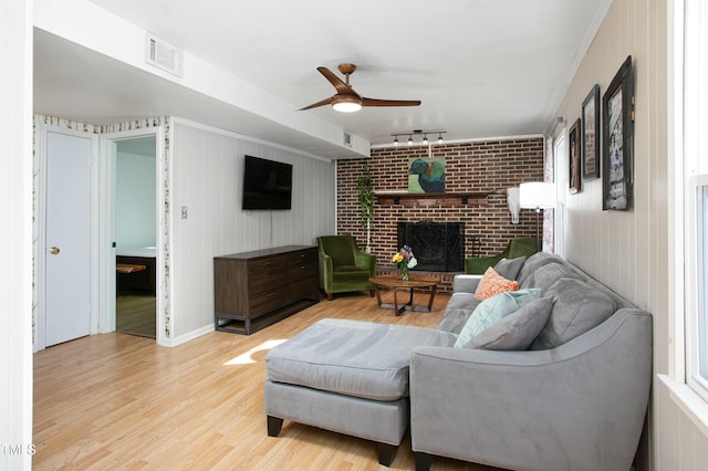
[[550, 350], [416, 347], [416, 452], [508, 469], [631, 468], [647, 410], [652, 320], [621, 310]]

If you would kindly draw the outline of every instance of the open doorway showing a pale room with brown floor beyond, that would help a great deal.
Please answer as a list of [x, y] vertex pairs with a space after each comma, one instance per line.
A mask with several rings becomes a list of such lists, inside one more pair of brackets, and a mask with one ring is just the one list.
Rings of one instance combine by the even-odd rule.
[[156, 136], [115, 140], [116, 332], [156, 337]]

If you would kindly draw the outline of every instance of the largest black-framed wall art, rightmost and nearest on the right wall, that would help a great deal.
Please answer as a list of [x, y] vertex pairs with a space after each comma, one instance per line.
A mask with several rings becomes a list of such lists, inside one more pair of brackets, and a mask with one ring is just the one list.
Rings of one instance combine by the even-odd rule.
[[617, 71], [602, 97], [603, 209], [627, 211], [632, 205], [634, 150], [634, 73], [632, 56]]

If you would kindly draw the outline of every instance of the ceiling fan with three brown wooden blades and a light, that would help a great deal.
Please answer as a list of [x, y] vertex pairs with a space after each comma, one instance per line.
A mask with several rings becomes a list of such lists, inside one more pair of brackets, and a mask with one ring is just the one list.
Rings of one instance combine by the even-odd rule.
[[377, 100], [361, 96], [358, 93], [354, 92], [354, 88], [352, 88], [352, 86], [350, 85], [350, 75], [353, 74], [356, 70], [356, 65], [340, 64], [337, 69], [344, 74], [346, 82], [342, 82], [342, 80], [334, 73], [332, 73], [332, 71], [330, 71], [327, 67], [317, 67], [317, 71], [320, 71], [320, 73], [324, 75], [324, 77], [330, 81], [332, 85], [334, 85], [334, 87], [336, 88], [336, 95], [321, 100], [317, 103], [313, 103], [312, 105], [300, 108], [299, 111], [316, 108], [317, 106], [332, 105], [332, 107], [337, 112], [351, 113], [360, 111], [362, 106], [420, 105], [419, 100]]

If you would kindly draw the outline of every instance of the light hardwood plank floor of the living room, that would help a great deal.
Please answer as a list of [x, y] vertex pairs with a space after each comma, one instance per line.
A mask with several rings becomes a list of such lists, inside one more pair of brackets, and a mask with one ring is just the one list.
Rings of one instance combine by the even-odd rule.
[[[250, 336], [214, 332], [168, 348], [114, 333], [38, 352], [33, 469], [385, 470], [366, 440], [288, 420], [268, 437], [263, 357], [324, 317], [431, 327], [447, 300], [395, 317], [375, 299], [341, 295]], [[391, 469], [414, 468], [406, 436]], [[448, 459], [433, 469], [490, 470]]]

